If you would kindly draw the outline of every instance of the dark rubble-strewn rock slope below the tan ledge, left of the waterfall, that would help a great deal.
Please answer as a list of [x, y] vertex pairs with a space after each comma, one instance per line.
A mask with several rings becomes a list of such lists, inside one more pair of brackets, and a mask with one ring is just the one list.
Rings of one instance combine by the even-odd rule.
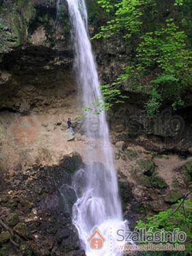
[[[73, 162], [74, 157], [77, 154], [70, 157], [70, 164], [77, 170], [82, 159], [78, 155], [79, 161]], [[0, 227], [0, 255], [84, 255], [70, 217], [76, 194], [70, 186], [69, 164], [64, 163], [6, 173], [0, 190], [0, 218], [12, 228], [13, 241], [19, 246]], [[63, 193], [63, 186], [71, 189], [70, 194]]]

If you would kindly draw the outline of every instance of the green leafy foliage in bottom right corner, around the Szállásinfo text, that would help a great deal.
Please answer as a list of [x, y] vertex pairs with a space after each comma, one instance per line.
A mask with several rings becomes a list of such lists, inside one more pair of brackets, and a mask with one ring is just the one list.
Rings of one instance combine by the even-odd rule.
[[[184, 243], [186, 246], [185, 252], [180, 252], [180, 254], [177, 255], [190, 255], [192, 252], [192, 202], [190, 200], [186, 200], [184, 204], [181, 203], [182, 202], [179, 202], [178, 204], [173, 205], [172, 209], [167, 209], [166, 211], [159, 212], [159, 214], [154, 216], [149, 216], [145, 221], [139, 220], [137, 223], [137, 228], [146, 228], [147, 230], [152, 228], [153, 232], [172, 232], [174, 228], [179, 228], [180, 231], [186, 232], [187, 240]], [[153, 255], [159, 256], [169, 255], [166, 252], [153, 253]], [[145, 252], [144, 255], [146, 254], [147, 252]]]

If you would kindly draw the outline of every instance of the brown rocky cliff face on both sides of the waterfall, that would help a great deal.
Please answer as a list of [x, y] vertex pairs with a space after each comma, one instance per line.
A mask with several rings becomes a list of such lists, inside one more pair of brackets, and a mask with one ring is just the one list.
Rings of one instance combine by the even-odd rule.
[[[71, 179], [67, 166], [61, 166], [63, 157], [76, 151], [86, 163], [85, 148], [97, 147], [81, 125], [67, 4], [60, 1], [60, 15], [56, 1], [0, 4], [0, 218], [13, 230], [16, 226], [20, 244], [14, 247], [2, 228], [0, 255], [84, 255], [58, 191]], [[105, 17], [95, 13], [94, 0], [88, 7], [93, 35]], [[132, 49], [118, 37], [94, 41], [93, 49], [101, 83], [114, 81], [131, 61]], [[156, 118], [148, 118], [143, 95], [132, 92], [131, 82], [124, 94], [129, 99], [109, 111], [108, 121], [124, 212], [134, 226], [138, 216], [163, 211], [188, 192], [191, 106], [177, 113], [164, 108]], [[77, 132], [72, 141], [68, 117]], [[61, 169], [65, 182], [56, 186]], [[54, 173], [58, 177], [52, 179]], [[66, 188], [63, 194], [68, 195]], [[17, 225], [29, 237], [19, 233]]]

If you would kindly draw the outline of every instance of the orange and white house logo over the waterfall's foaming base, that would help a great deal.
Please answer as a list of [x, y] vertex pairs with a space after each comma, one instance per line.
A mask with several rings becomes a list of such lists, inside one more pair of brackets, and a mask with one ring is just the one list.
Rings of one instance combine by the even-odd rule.
[[88, 238], [90, 248], [93, 250], [100, 250], [103, 247], [104, 241], [106, 241], [106, 239], [100, 233], [99, 228], [93, 228], [92, 234]]

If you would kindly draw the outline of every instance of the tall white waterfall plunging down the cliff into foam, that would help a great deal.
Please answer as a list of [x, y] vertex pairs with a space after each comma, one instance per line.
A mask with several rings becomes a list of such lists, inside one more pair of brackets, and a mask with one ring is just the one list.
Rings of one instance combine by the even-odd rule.
[[[102, 101], [99, 77], [88, 35], [88, 19], [84, 0], [67, 0], [74, 42], [74, 69], [77, 83], [81, 87], [82, 104], [92, 108], [93, 102]], [[113, 150], [109, 142], [109, 130], [104, 111], [94, 115], [90, 111], [84, 120], [86, 136], [100, 141], [95, 147], [88, 147], [89, 165], [87, 170], [79, 170], [74, 176], [73, 186], [78, 200], [73, 207], [73, 222], [86, 255], [122, 255], [117, 248], [116, 231], [127, 228], [122, 217], [122, 207], [118, 196], [118, 182], [113, 164]], [[95, 127], [97, 129], [95, 129]], [[95, 159], [100, 159], [96, 163]], [[93, 227], [99, 227], [106, 239], [101, 250], [92, 250], [88, 237]]]

